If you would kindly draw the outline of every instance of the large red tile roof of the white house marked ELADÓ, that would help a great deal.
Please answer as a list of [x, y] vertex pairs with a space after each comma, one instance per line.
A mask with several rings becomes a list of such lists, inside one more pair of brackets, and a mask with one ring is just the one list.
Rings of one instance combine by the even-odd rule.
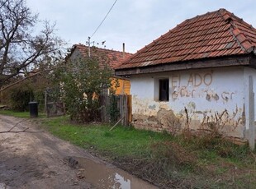
[[220, 9], [183, 21], [117, 69], [246, 54], [253, 52], [255, 46], [253, 26]]

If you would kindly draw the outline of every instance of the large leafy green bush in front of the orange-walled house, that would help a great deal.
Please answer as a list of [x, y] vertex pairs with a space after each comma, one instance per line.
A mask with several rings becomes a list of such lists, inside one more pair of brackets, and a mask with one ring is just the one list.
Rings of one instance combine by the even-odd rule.
[[111, 87], [111, 75], [107, 60], [100, 64], [97, 58], [77, 58], [59, 71], [62, 96], [73, 121], [100, 120], [99, 96]]

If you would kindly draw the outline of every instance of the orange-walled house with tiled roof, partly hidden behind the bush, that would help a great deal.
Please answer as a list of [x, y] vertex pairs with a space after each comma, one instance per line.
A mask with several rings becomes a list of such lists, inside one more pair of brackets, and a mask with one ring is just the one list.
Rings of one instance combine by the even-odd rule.
[[[83, 44], [74, 44], [71, 48], [71, 52], [66, 59], [77, 59], [88, 57], [89, 48]], [[97, 48], [95, 46], [90, 47], [90, 56], [92, 58], [98, 58], [100, 64], [107, 63], [111, 69], [115, 69], [117, 65], [125, 61], [126, 58], [130, 58], [131, 53], [125, 53], [120, 51], [109, 50], [106, 48]], [[116, 88], [116, 95], [130, 95], [130, 79], [128, 77], [114, 76], [113, 82], [118, 80], [119, 86]]]

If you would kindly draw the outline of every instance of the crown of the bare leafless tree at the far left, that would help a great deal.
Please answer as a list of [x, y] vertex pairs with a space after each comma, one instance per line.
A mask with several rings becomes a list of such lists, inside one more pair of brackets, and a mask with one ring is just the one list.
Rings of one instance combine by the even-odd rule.
[[63, 44], [54, 31], [55, 25], [39, 21], [25, 0], [0, 0], [0, 89], [31, 69], [49, 68]]

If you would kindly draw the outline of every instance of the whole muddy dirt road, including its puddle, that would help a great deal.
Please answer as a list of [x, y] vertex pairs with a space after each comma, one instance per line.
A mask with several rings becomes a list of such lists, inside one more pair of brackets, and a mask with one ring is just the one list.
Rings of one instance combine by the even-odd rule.
[[0, 115], [0, 132], [0, 189], [156, 188], [50, 135], [31, 120]]

